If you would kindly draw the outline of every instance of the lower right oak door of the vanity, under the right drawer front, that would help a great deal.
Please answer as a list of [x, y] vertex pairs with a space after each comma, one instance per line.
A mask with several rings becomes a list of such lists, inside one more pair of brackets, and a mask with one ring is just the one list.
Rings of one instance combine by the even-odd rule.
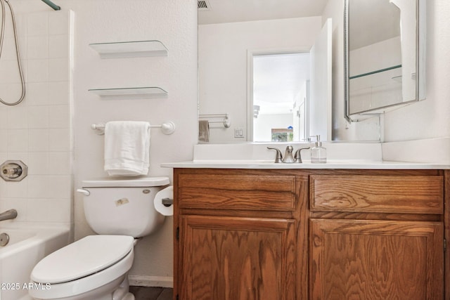
[[310, 220], [311, 299], [443, 299], [437, 222]]

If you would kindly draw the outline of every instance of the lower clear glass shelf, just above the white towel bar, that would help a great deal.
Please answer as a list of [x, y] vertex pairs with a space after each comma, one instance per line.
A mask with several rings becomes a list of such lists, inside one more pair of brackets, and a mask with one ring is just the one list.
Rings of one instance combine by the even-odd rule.
[[139, 87], [122, 89], [90, 89], [91, 93], [96, 93], [105, 100], [113, 99], [148, 99], [166, 98], [167, 91], [158, 87]]

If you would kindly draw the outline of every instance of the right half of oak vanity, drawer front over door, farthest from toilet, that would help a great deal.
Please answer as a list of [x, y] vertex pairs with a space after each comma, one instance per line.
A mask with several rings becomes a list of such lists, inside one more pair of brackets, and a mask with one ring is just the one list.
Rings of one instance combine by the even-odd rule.
[[444, 176], [390, 173], [310, 176], [310, 299], [444, 299]]

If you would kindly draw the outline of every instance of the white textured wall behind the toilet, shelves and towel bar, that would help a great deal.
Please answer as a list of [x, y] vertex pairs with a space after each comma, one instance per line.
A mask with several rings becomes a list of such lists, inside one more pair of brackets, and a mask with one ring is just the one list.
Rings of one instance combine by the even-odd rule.
[[[161, 162], [192, 159], [197, 126], [197, 6], [193, 0], [73, 0], [75, 47], [75, 188], [82, 180], [105, 177], [103, 136], [91, 124], [112, 120], [172, 120], [176, 131], [166, 136], [152, 129], [149, 176], [169, 176]], [[64, 2], [60, 5], [65, 5]], [[90, 43], [157, 39], [167, 57], [101, 60]], [[88, 89], [160, 86], [167, 98], [101, 100]], [[172, 285], [172, 217], [158, 233], [135, 247], [131, 279], [143, 285]], [[91, 234], [82, 197], [75, 195], [75, 237]], [[143, 282], [139, 282], [143, 281]], [[133, 282], [132, 282], [133, 283]]]

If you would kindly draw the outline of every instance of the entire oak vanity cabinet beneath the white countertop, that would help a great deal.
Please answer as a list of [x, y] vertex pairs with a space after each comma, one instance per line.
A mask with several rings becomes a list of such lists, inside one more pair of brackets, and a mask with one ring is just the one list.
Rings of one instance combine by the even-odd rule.
[[444, 173], [174, 169], [174, 299], [444, 299]]

